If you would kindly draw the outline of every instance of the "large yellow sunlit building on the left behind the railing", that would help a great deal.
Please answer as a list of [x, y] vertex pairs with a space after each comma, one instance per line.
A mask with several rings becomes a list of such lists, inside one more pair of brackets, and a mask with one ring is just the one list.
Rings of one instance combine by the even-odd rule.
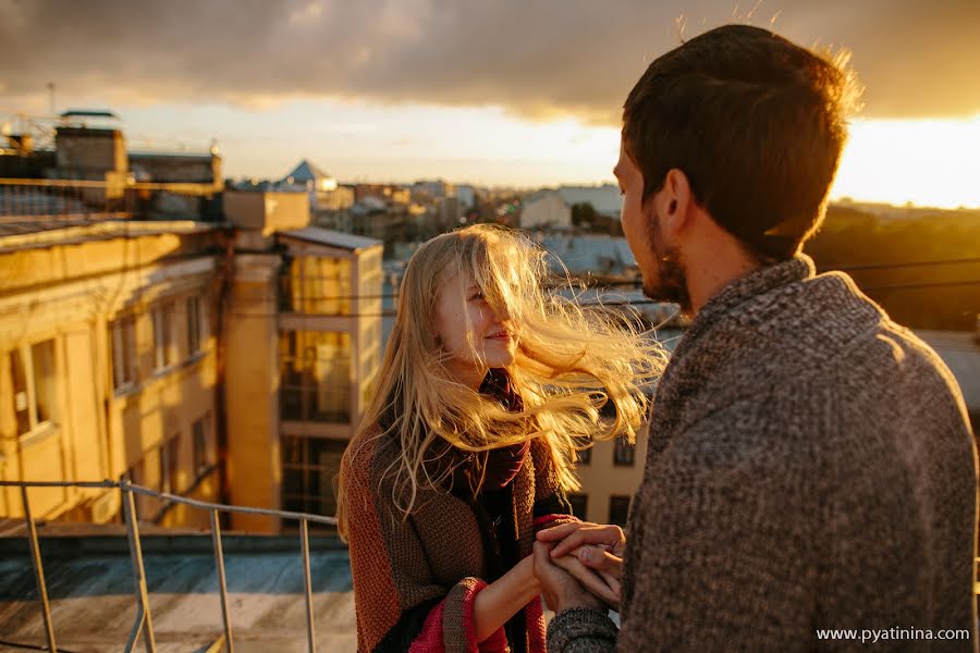
[[[117, 136], [89, 137], [102, 153], [75, 148], [63, 161], [97, 176], [120, 162]], [[0, 479], [126, 478], [332, 515], [329, 480], [380, 365], [381, 242], [311, 226], [305, 192], [229, 190], [213, 222], [191, 209], [135, 220], [146, 213], [111, 210], [118, 180], [103, 175], [0, 178]], [[144, 188], [123, 186], [120, 201]], [[211, 186], [147, 193], [188, 188]], [[120, 519], [118, 492], [30, 498], [41, 519]], [[147, 496], [137, 513], [161, 526], [209, 519]], [[0, 517], [22, 515], [2, 489]], [[241, 515], [231, 526], [280, 529]]]

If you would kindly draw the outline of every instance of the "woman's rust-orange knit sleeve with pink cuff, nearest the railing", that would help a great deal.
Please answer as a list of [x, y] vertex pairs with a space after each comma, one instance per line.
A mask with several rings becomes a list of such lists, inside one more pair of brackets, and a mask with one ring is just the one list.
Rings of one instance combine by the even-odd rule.
[[369, 463], [344, 459], [347, 539], [358, 651], [502, 651], [503, 629], [477, 643], [473, 607], [479, 578], [440, 583], [411, 519], [394, 509], [391, 488], [371, 482]]

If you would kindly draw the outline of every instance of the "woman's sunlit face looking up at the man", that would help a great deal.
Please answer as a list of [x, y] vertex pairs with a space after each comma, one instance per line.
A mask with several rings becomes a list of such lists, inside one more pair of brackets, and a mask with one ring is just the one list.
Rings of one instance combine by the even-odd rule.
[[448, 278], [439, 291], [436, 328], [450, 354], [450, 371], [463, 383], [479, 387], [489, 368], [514, 361], [517, 334], [506, 316], [498, 316], [478, 285], [464, 274]]

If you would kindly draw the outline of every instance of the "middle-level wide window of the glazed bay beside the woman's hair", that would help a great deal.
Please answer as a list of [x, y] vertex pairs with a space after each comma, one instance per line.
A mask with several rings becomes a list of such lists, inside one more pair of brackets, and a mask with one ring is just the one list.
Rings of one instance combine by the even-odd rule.
[[351, 334], [286, 331], [280, 338], [283, 420], [351, 421]]

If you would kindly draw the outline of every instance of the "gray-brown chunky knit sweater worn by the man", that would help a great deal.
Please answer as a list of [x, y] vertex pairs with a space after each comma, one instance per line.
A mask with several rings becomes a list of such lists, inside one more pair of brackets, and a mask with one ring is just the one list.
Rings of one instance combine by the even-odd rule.
[[[801, 256], [695, 319], [657, 393], [622, 630], [572, 609], [548, 649], [852, 650], [877, 634], [874, 651], [976, 651], [976, 447], [948, 370]], [[969, 638], [926, 639], [945, 629]]]

